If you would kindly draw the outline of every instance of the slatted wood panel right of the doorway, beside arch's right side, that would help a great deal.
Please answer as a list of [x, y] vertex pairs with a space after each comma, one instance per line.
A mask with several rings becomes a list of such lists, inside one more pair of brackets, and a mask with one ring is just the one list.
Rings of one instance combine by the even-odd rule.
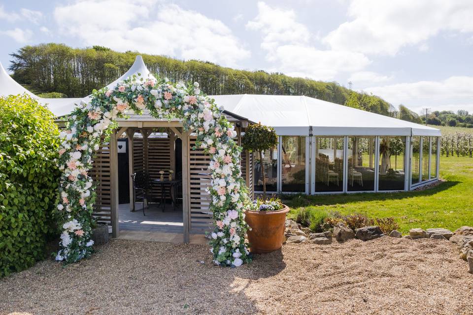
[[[205, 189], [210, 185], [210, 157], [203, 154], [202, 149], [192, 150], [196, 142], [195, 136], [190, 136], [189, 153], [189, 229], [191, 233], [202, 233], [212, 227], [213, 215], [208, 210], [210, 195]], [[206, 174], [206, 175], [203, 175]]]

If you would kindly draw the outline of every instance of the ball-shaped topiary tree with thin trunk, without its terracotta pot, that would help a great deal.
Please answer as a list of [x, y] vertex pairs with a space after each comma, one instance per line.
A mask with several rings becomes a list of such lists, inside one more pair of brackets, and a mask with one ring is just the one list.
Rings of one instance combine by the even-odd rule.
[[263, 174], [263, 196], [266, 198], [266, 176], [265, 164], [263, 163], [263, 152], [277, 146], [277, 135], [274, 128], [261, 124], [252, 124], [246, 128], [241, 139], [244, 150], [257, 152], [260, 155], [261, 173]]

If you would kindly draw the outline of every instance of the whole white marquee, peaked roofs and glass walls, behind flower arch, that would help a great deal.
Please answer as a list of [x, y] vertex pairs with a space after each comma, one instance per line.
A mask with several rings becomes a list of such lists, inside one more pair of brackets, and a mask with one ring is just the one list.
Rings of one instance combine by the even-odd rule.
[[[147, 77], [141, 56], [107, 87], [132, 75]], [[0, 95], [26, 93], [57, 117], [84, 98], [40, 98], [15, 82], [0, 64]], [[269, 191], [338, 193], [409, 190], [439, 177], [440, 130], [307, 96], [214, 95], [226, 111], [273, 126], [277, 150], [266, 152]], [[398, 148], [402, 144], [401, 149]], [[387, 149], [386, 149], [387, 148]], [[255, 190], [263, 174], [255, 168]], [[376, 167], [376, 165], [378, 165]], [[267, 172], [267, 173], [266, 173]]]

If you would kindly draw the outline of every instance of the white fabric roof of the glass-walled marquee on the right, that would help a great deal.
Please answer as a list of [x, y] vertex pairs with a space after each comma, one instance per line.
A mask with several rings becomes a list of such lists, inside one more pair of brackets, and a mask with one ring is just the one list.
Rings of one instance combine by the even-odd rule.
[[307, 96], [244, 94], [211, 97], [236, 115], [273, 126], [278, 135], [441, 135], [436, 128]]

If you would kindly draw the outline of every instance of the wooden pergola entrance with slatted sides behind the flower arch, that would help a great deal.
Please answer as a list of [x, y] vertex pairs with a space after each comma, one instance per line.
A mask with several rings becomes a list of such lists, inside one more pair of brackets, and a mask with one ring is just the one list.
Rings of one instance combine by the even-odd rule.
[[[227, 119], [236, 126], [237, 141], [241, 141], [241, 132], [248, 126], [242, 117], [224, 112]], [[119, 228], [119, 179], [118, 179], [118, 138], [126, 136], [129, 144], [129, 173], [146, 171], [151, 179], [159, 178], [160, 170], [175, 171], [175, 140], [182, 141], [182, 218], [183, 242], [189, 242], [191, 233], [203, 233], [213, 224], [212, 214], [208, 210], [209, 195], [205, 192], [210, 184], [207, 168], [210, 156], [203, 150], [194, 148], [196, 135], [185, 132], [178, 120], [168, 121], [153, 118], [150, 115], [131, 115], [128, 119], [118, 120], [118, 128], [110, 135], [110, 142], [101, 144], [95, 153], [90, 174], [97, 183], [97, 199], [94, 204], [94, 217], [97, 221], [111, 225], [112, 236], [120, 235]], [[167, 136], [150, 137], [155, 132]], [[241, 154], [242, 177], [253, 198], [253, 155]], [[208, 175], [204, 175], [208, 173]], [[165, 176], [168, 176], [166, 172]], [[133, 183], [130, 180], [130, 206], [133, 207]], [[160, 188], [153, 189], [160, 194]]]

